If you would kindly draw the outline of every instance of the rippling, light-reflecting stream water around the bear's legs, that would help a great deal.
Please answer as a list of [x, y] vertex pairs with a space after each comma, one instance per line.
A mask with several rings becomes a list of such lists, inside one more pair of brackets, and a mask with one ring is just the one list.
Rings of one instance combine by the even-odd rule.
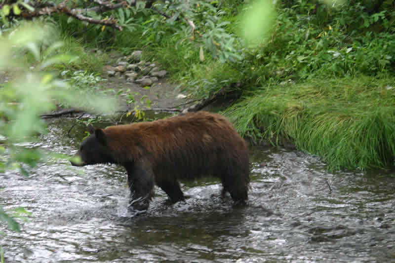
[[[40, 146], [73, 154], [82, 127], [60, 119]], [[251, 148], [249, 205], [221, 198], [215, 179], [183, 184], [168, 205], [156, 188], [147, 214], [127, 207], [114, 165], [50, 160], [24, 178], [0, 175], [6, 210], [33, 213], [20, 233], [0, 225], [4, 262], [395, 262], [395, 172], [330, 173], [298, 151]]]

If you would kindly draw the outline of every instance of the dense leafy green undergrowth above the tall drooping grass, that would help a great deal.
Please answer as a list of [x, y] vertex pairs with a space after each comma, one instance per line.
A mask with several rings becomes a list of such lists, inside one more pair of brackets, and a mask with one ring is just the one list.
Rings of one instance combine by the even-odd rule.
[[[219, 18], [218, 25], [222, 25], [220, 28], [225, 31], [213, 28], [205, 31], [203, 35], [207, 42], [203, 48], [203, 63], [198, 59], [197, 39], [195, 38], [193, 43], [186, 40], [188, 31], [182, 35], [179, 31], [172, 36], [162, 34], [161, 42], [153, 42], [155, 45], [150, 45], [149, 48], [155, 50], [153, 53], [164, 66], [169, 67], [170, 73], [176, 74], [175, 78], [181, 79], [183, 85], [197, 97], [207, 97], [213, 90], [219, 90], [229, 84], [232, 86], [232, 83], [236, 82], [241, 83], [245, 90], [251, 90], [284, 81], [303, 82], [321, 77], [360, 74], [377, 76], [394, 70], [395, 42], [392, 39], [391, 27], [393, 19], [389, 18], [388, 11], [380, 10], [378, 13], [369, 14], [365, 6], [350, 1], [336, 1], [335, 4], [328, 5], [317, 5], [316, 1], [307, 0], [292, 2], [291, 7], [286, 7], [281, 2], [277, 3], [275, 20], [272, 20], [274, 12], [269, 18], [263, 16], [264, 13], [261, 16], [257, 15], [260, 14], [257, 12], [259, 4], [266, 6], [265, 4], [272, 2], [258, 2], [257, 8], [247, 5], [244, 7], [247, 15], [244, 15], [246, 18], [243, 23], [239, 20], [243, 16], [237, 16], [235, 19], [234, 15], [227, 15], [222, 13], [221, 9], [216, 9], [217, 13], [221, 14], [216, 16]], [[224, 8], [229, 10], [228, 12], [239, 14], [242, 10], [241, 5], [232, 4], [225, 2]], [[210, 22], [199, 22], [199, 19], [205, 21], [207, 16], [202, 16], [204, 12], [210, 13], [212, 10], [205, 8], [206, 6], [201, 5], [194, 9], [194, 22], [199, 30], [211, 25]], [[255, 19], [258, 22], [254, 22], [254, 19], [249, 20], [249, 10], [255, 11], [256, 17], [265, 19]], [[262, 7], [262, 10], [270, 8]], [[230, 21], [232, 24], [229, 24]], [[152, 26], [152, 34], [155, 27], [162, 24], [164, 23]], [[243, 47], [242, 40], [233, 35], [239, 28], [235, 25], [244, 25], [244, 32], [250, 34], [251, 39], [266, 36], [267, 40], [259, 45], [250, 45], [250, 48]], [[232, 56], [227, 57], [224, 53], [220, 57], [215, 49], [209, 49], [210, 53], [214, 54], [214, 59], [207, 60], [205, 51], [209, 43], [216, 43], [216, 38], [212, 38], [210, 33], [220, 36], [221, 32], [232, 35], [234, 49], [231, 49], [231, 53], [240, 57], [236, 55], [233, 57], [237, 59], [232, 59]], [[226, 39], [223, 36], [219, 38]], [[176, 42], [177, 39], [181, 40]], [[251, 42], [251, 39], [247, 43]], [[218, 47], [215, 46], [214, 48]], [[218, 58], [220, 62], [227, 63], [218, 65]], [[226, 77], [229, 77], [228, 81]], [[238, 79], [235, 81], [236, 77]]]

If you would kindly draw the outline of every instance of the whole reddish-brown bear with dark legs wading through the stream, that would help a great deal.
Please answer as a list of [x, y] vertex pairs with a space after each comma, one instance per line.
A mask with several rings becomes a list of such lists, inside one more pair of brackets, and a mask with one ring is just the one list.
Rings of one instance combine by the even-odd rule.
[[221, 179], [223, 194], [248, 199], [248, 148], [222, 115], [195, 112], [151, 122], [93, 128], [72, 165], [116, 163], [127, 171], [130, 207], [146, 210], [157, 184], [172, 202], [184, 200], [177, 179]]

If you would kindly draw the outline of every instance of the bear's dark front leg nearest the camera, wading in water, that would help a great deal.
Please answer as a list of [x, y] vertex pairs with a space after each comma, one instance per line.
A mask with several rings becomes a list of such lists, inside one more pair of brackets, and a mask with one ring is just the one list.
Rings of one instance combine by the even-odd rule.
[[146, 162], [123, 164], [127, 171], [127, 184], [130, 190], [129, 208], [147, 210], [154, 196], [154, 172]]

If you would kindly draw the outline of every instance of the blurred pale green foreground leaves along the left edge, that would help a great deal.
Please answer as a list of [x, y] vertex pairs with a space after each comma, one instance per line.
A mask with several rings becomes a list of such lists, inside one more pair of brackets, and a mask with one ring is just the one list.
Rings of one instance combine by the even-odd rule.
[[[54, 73], [46, 72], [48, 67], [77, 59], [59, 53], [63, 44], [56, 36], [53, 26], [22, 23], [0, 38], [0, 74], [10, 78], [0, 86], [0, 173], [16, 169], [27, 176], [26, 167], [43, 160], [45, 152], [24, 148], [20, 143], [31, 142], [33, 136], [46, 132], [40, 114], [55, 109], [55, 103], [101, 113], [116, 109], [114, 100], [81, 93]], [[9, 215], [0, 207], [0, 221], [7, 222], [11, 229], [19, 230], [15, 218], [25, 219], [22, 215], [29, 213], [18, 208]]]

